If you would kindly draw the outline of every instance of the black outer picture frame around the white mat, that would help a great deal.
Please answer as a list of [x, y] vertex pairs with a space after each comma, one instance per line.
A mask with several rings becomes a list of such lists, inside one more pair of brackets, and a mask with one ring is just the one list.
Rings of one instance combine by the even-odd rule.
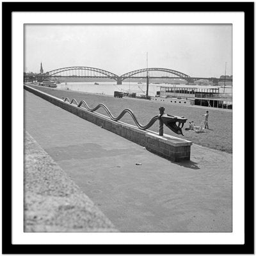
[[[185, 254], [185, 253], [254, 253], [254, 174], [253, 141], [254, 138], [254, 3], [2, 3], [3, 31], [3, 81], [2, 81], [2, 120], [3, 120], [3, 214], [2, 237], [3, 253], [58, 253], [58, 254], [104, 254], [104, 253], [143, 253], [143, 254]], [[102, 245], [102, 244], [12, 244], [12, 12], [244, 12], [244, 77], [245, 93], [245, 152], [244, 152], [244, 244], [138, 244], [138, 245]], [[236, 74], [234, 74], [235, 76]], [[246, 130], [245, 130], [246, 131]], [[247, 130], [248, 131], [248, 130]]]

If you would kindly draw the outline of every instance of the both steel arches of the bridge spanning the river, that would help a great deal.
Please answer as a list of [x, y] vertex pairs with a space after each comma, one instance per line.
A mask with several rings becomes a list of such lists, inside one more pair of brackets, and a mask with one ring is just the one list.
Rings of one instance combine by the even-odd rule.
[[182, 78], [189, 79], [190, 76], [179, 72], [177, 70], [172, 70], [168, 68], [141, 68], [128, 73], [118, 76], [107, 70], [93, 67], [65, 67], [58, 68], [46, 72], [44, 74], [38, 74], [37, 78], [39, 81], [44, 79], [54, 77], [86, 77], [86, 78], [109, 78], [117, 82], [117, 84], [122, 84], [125, 79], [141, 79], [141, 78]]

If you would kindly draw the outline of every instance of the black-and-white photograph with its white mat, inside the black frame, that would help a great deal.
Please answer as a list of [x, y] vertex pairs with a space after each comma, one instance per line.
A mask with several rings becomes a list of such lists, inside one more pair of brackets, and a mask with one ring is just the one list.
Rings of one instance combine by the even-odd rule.
[[14, 12], [15, 241], [244, 244], [243, 13], [184, 14]]

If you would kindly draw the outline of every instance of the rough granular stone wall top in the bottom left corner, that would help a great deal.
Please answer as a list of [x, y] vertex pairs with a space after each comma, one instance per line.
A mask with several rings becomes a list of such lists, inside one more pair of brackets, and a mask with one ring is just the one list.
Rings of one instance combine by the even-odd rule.
[[28, 132], [24, 133], [24, 232], [118, 232]]

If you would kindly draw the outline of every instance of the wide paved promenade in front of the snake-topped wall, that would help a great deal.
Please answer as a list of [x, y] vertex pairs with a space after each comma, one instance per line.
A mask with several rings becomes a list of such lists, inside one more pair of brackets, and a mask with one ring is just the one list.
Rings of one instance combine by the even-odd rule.
[[193, 145], [172, 163], [24, 96], [26, 131], [121, 232], [232, 232], [232, 154]]

